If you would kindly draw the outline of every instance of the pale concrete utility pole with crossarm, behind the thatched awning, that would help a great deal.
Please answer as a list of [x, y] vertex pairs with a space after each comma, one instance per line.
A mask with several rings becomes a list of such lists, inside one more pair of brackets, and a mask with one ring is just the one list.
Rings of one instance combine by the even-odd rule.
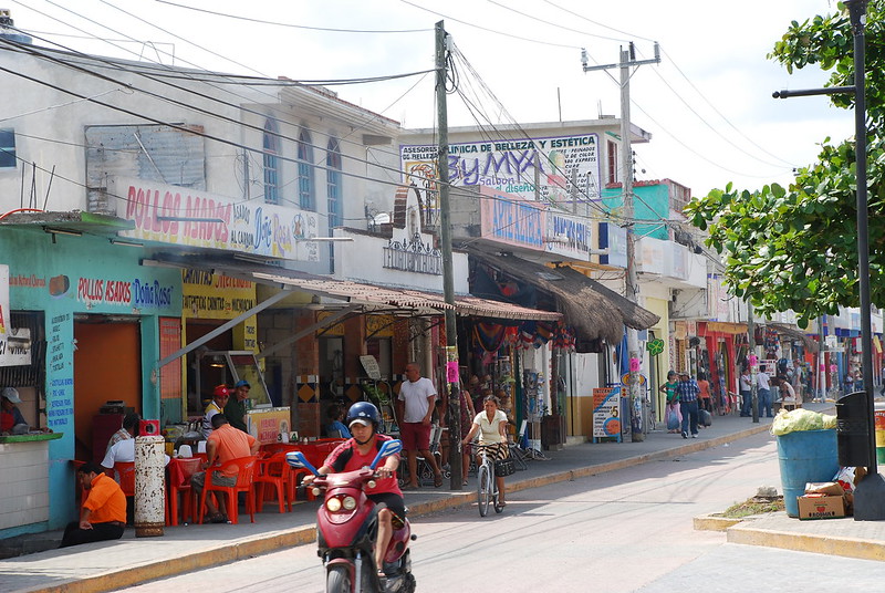
[[[621, 48], [621, 59], [617, 64], [587, 65], [586, 51], [582, 51], [581, 61], [584, 72], [593, 70], [621, 70], [621, 179], [624, 194], [624, 219], [627, 225], [627, 270], [625, 279], [625, 293], [631, 302], [637, 302], [638, 280], [636, 277], [636, 235], [633, 221], [633, 150], [631, 149], [629, 133], [629, 77], [631, 66], [638, 67], [644, 64], [660, 63], [660, 49], [655, 42], [655, 56], [650, 60], [636, 60], [633, 42], [624, 49]], [[642, 373], [642, 352], [639, 352], [639, 336], [636, 330], [627, 327], [627, 356], [629, 358], [629, 389], [631, 409], [631, 439], [634, 443], [645, 440], [648, 433], [648, 408], [645, 396], [639, 391], [639, 374]]]

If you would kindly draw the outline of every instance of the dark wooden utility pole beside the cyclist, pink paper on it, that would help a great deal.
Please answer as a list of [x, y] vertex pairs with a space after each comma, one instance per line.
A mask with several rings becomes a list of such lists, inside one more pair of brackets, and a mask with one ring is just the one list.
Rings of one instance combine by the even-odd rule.
[[[439, 134], [436, 162], [439, 179], [439, 242], [442, 251], [442, 296], [455, 304], [455, 281], [451, 262], [451, 216], [449, 212], [449, 123], [446, 106], [446, 30], [436, 23], [436, 108]], [[458, 376], [458, 326], [455, 309], [446, 309], [446, 382], [449, 385], [449, 468], [452, 490], [461, 490], [461, 386]], [[452, 455], [452, 451], [455, 455]], [[441, 469], [441, 468], [440, 468]]]

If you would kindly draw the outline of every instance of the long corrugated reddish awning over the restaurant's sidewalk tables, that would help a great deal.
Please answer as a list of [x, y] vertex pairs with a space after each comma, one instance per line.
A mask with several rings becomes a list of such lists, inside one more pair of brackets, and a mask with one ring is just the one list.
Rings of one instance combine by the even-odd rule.
[[439, 314], [447, 309], [454, 309], [461, 315], [492, 319], [555, 321], [562, 316], [552, 311], [538, 311], [471, 295], [456, 295], [455, 304], [450, 305], [446, 303], [442, 294], [436, 292], [351, 282], [225, 257], [157, 254], [152, 261], [154, 264], [206, 270], [284, 290], [298, 290], [351, 305], [360, 305], [362, 312], [365, 313], [408, 311], [417, 314]]

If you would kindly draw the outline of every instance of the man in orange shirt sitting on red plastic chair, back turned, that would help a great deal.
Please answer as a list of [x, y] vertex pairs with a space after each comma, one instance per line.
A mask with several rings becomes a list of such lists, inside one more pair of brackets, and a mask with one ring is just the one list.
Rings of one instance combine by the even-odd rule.
[[[231, 459], [249, 457], [258, 452], [260, 443], [256, 437], [242, 430], [237, 430], [223, 414], [212, 416], [212, 434], [206, 439], [206, 462], [202, 469], [206, 470], [216, 461], [222, 465]], [[227, 469], [225, 471], [216, 469], [212, 471], [212, 483], [215, 486], [236, 486], [237, 470]], [[202, 495], [206, 485], [206, 471], [199, 471], [190, 478], [190, 486], [197, 496]], [[227, 509], [225, 508], [225, 497], [218, 498], [218, 508], [212, 503], [210, 497], [206, 498], [206, 509], [209, 511], [209, 521], [212, 523], [226, 523]]]

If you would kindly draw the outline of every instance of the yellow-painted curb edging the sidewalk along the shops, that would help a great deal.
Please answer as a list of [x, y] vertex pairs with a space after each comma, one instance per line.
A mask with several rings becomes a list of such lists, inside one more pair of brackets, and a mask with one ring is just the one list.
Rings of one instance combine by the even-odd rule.
[[[686, 443], [681, 447], [676, 447], [669, 450], [637, 455], [635, 457], [628, 457], [617, 461], [608, 461], [595, 466], [559, 471], [555, 474], [548, 474], [545, 476], [538, 476], [534, 478], [508, 483], [506, 491], [518, 492], [520, 490], [539, 488], [542, 486], [549, 486], [551, 483], [574, 481], [577, 478], [596, 476], [597, 474], [605, 474], [627, 467], [638, 466], [648, 461], [679, 457], [683, 455], [710, 449], [712, 447], [718, 447], [726, 443], [746, 438], [768, 429], [769, 425], [767, 424], [753, 426], [746, 430], [717, 438]], [[464, 507], [465, 504], [472, 503], [475, 500], [476, 495], [472, 491], [454, 492], [436, 500], [409, 504], [409, 514], [412, 517], [420, 517], [431, 512]], [[183, 574], [195, 570], [207, 569], [219, 564], [227, 564], [250, 556], [275, 552], [282, 548], [303, 545], [314, 541], [316, 541], [316, 529], [313, 526], [299, 527], [291, 530], [273, 531], [269, 533], [251, 535], [230, 543], [207, 548], [183, 558], [175, 558], [136, 566], [123, 568], [115, 571], [107, 571], [92, 576], [83, 576], [77, 580], [62, 581], [51, 586], [21, 590], [20, 593], [24, 593], [25, 591], [28, 593], [101, 593], [105, 591], [114, 591], [117, 589], [139, 584], [145, 581], [175, 576], [177, 574]], [[883, 548], [882, 558], [877, 558], [877, 560], [885, 560], [885, 548]]]

